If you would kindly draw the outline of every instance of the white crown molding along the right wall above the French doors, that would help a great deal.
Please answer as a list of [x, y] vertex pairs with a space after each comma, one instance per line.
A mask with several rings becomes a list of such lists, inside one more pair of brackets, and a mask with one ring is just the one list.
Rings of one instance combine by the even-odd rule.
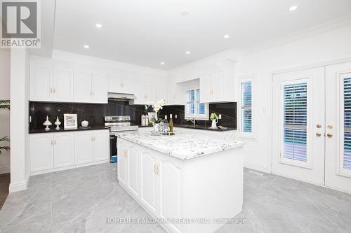
[[314, 27], [309, 27], [301, 31], [294, 32], [287, 36], [282, 36], [280, 38], [267, 41], [265, 43], [260, 43], [258, 45], [253, 45], [247, 48], [237, 49], [237, 54], [241, 57], [244, 55], [250, 55], [252, 53], [267, 50], [269, 48], [274, 48], [279, 45], [284, 45], [287, 43], [293, 43], [295, 41], [302, 40], [304, 38], [309, 38], [317, 34], [323, 34], [326, 31], [333, 31], [342, 27], [347, 27], [351, 25], [351, 15], [346, 15], [345, 17], [339, 17], [336, 20], [331, 20], [329, 22], [324, 22], [318, 24]]

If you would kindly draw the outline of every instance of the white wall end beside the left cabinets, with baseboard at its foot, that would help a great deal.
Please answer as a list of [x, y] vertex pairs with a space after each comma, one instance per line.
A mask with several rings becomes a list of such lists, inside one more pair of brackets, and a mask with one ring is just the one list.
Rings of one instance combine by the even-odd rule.
[[25, 190], [29, 177], [29, 59], [27, 50], [11, 49], [11, 183], [10, 192]]

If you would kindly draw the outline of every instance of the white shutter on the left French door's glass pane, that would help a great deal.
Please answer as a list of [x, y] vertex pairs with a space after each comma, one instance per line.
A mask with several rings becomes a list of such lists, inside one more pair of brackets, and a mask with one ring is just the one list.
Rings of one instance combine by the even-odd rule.
[[307, 161], [307, 83], [284, 85], [283, 157]]

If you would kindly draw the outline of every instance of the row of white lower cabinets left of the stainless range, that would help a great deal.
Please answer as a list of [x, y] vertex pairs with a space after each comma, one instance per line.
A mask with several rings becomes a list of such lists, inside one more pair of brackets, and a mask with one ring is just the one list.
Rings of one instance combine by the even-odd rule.
[[29, 135], [30, 173], [41, 174], [109, 161], [108, 129]]

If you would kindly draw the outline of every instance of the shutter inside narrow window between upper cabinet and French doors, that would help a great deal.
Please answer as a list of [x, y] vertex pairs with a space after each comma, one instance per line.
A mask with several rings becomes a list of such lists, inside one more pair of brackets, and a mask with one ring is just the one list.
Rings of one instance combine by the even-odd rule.
[[252, 132], [252, 82], [241, 83], [241, 132]]

